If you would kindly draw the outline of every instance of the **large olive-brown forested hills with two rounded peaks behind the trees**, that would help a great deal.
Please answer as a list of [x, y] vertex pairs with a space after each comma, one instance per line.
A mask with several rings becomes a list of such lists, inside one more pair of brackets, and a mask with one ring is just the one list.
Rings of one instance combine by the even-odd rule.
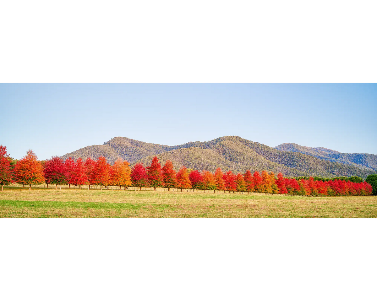
[[[297, 145], [297, 144], [296, 144]], [[291, 147], [291, 146], [290, 146]], [[293, 149], [293, 148], [291, 148]], [[341, 154], [336, 151], [318, 148], [323, 154]], [[217, 167], [233, 172], [267, 170], [282, 172], [286, 176], [320, 176], [332, 178], [336, 176], [360, 176], [363, 179], [374, 173], [370, 168], [362, 168], [349, 164], [321, 160], [316, 156], [301, 152], [281, 151], [267, 145], [242, 139], [238, 136], [226, 136], [210, 141], [189, 142], [182, 145], [168, 146], [145, 143], [125, 137], [115, 137], [103, 145], [86, 146], [62, 156], [63, 159], [88, 157], [97, 160], [104, 156], [110, 164], [118, 158], [131, 164], [142, 162], [149, 165], [152, 157], [157, 155], [162, 164], [171, 160], [176, 170], [185, 165], [188, 168], [209, 170]], [[374, 156], [374, 155], [373, 155]]]

